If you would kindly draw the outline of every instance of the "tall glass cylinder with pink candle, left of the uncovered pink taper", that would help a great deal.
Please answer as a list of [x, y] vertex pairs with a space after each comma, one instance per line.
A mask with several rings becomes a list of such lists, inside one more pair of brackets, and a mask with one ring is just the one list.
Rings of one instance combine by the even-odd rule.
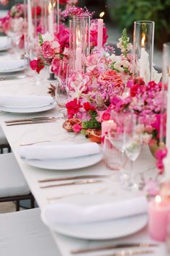
[[70, 23], [70, 43], [76, 71], [85, 71], [86, 56], [90, 50], [90, 17], [73, 17]]

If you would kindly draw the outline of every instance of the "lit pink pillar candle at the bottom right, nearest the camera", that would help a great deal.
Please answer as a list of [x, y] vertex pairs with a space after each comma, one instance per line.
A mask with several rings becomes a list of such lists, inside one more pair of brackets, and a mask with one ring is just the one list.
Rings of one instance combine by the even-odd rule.
[[161, 200], [157, 195], [149, 204], [149, 234], [156, 241], [166, 241], [167, 226], [170, 216], [170, 201]]

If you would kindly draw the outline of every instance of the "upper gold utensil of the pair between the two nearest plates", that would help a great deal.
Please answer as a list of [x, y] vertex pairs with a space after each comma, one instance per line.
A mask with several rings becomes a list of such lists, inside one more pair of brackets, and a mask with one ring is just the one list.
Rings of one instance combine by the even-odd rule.
[[53, 178], [53, 179], [40, 179], [38, 182], [61, 182], [61, 181], [67, 181], [71, 179], [103, 179], [108, 178], [108, 175], [79, 175], [79, 176], [69, 176], [69, 177], [63, 177], [63, 178]]

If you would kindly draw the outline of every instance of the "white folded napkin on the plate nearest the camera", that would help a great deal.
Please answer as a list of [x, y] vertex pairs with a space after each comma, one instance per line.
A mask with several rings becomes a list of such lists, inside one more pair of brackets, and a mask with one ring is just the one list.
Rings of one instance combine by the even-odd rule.
[[110, 221], [146, 213], [147, 210], [148, 202], [144, 196], [107, 202], [101, 205], [81, 206], [58, 202], [47, 205], [42, 211], [42, 219], [45, 219], [50, 225], [56, 223], [76, 224]]

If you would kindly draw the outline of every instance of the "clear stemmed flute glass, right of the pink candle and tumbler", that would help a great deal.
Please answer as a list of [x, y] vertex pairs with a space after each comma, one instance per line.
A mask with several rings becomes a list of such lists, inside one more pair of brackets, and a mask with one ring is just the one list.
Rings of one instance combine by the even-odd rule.
[[128, 188], [135, 190], [139, 184], [135, 181], [135, 171], [133, 163], [137, 160], [141, 150], [141, 135], [138, 130], [139, 119], [132, 114], [130, 119], [126, 120], [124, 127], [124, 148], [125, 154], [130, 159], [130, 179]]

